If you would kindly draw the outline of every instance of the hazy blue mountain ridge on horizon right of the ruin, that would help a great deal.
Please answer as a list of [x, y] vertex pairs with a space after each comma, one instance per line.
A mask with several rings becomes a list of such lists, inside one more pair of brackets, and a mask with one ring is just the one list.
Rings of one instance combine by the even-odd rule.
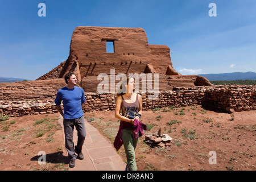
[[254, 72], [234, 72], [234, 73], [217, 73], [217, 74], [201, 74], [210, 81], [223, 81], [223, 80], [256, 80], [256, 73]]

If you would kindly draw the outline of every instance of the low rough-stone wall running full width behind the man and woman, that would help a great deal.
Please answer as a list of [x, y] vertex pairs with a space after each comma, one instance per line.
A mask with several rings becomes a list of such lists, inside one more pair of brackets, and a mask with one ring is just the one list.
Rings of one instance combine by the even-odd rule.
[[[175, 88], [159, 92], [156, 100], [150, 100], [150, 93], [141, 93], [143, 110], [155, 107], [207, 105], [222, 111], [256, 110], [256, 86], [197, 86], [195, 88]], [[37, 101], [0, 101], [0, 114], [18, 117], [28, 114], [57, 113], [54, 98]], [[114, 110], [115, 94], [85, 93], [85, 113], [98, 110]]]

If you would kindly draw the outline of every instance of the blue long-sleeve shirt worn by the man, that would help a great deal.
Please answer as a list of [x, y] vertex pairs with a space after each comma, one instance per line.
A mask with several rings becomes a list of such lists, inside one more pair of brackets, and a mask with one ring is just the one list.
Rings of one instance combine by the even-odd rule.
[[81, 104], [85, 103], [84, 89], [75, 86], [73, 89], [68, 89], [67, 86], [57, 92], [55, 98], [56, 106], [63, 101], [64, 119], [76, 119], [84, 115]]

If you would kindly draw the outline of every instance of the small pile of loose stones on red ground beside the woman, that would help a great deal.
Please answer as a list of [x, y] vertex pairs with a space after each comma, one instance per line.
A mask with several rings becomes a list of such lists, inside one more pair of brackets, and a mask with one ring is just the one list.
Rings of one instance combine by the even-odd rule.
[[150, 147], [162, 147], [170, 150], [172, 138], [168, 134], [161, 134], [161, 129], [158, 133], [147, 133], [145, 141]]

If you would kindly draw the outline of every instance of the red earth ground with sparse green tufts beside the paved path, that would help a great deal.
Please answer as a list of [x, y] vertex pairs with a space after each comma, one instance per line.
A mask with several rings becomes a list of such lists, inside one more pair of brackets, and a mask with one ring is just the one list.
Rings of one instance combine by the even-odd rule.
[[[0, 170], [68, 170], [59, 117], [26, 115], [1, 121]], [[231, 115], [201, 106], [143, 111], [142, 122], [152, 128], [135, 150], [138, 170], [255, 171], [255, 118], [255, 110]], [[113, 143], [119, 127], [114, 111], [85, 113], [88, 121]], [[172, 137], [170, 148], [152, 148], [144, 142], [147, 133], [160, 128]], [[38, 164], [39, 151], [45, 152], [46, 165]], [[117, 153], [126, 162], [123, 147]]]

